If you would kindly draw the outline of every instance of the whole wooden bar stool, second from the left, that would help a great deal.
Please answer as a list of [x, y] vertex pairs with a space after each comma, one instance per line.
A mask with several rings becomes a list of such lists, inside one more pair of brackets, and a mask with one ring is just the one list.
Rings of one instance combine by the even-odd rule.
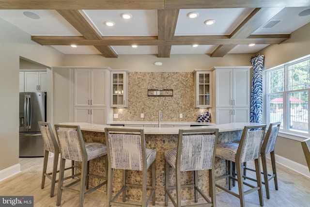
[[[61, 205], [62, 191], [68, 190], [79, 194], [79, 207], [83, 206], [84, 196], [95, 191], [101, 186], [107, 184], [107, 178], [100, 175], [89, 173], [89, 161], [99, 157], [104, 157], [107, 161], [107, 146], [103, 143], [84, 143], [82, 132], [79, 126], [55, 125], [55, 131], [60, 145], [61, 162], [60, 176], [57, 194], [57, 206]], [[63, 185], [65, 160], [70, 159], [81, 162], [80, 179], [75, 180], [67, 185]], [[107, 162], [106, 162], [107, 163]], [[96, 177], [104, 180], [92, 189], [89, 189], [89, 177]], [[70, 188], [70, 186], [79, 182], [79, 190]], [[88, 191], [85, 191], [86, 190]]]

